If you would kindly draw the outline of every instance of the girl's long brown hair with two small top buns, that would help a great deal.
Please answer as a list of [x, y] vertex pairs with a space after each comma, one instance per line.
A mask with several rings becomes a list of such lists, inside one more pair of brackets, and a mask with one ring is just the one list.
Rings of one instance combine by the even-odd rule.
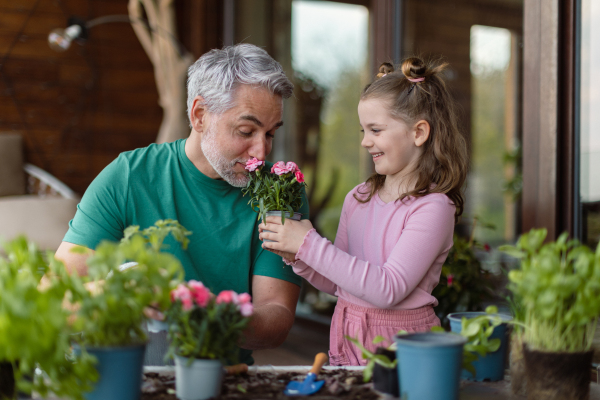
[[[467, 177], [468, 155], [464, 136], [458, 129], [456, 105], [442, 77], [447, 64], [434, 66], [419, 57], [410, 57], [402, 69], [388, 73], [368, 85], [360, 99], [381, 99], [390, 114], [413, 126], [420, 120], [429, 123], [429, 138], [423, 144], [419, 162], [408, 177], [415, 188], [399, 193], [406, 197], [423, 197], [429, 193], [444, 193], [456, 206], [455, 221], [464, 209], [463, 186]], [[421, 82], [409, 79], [424, 78]], [[366, 182], [366, 192], [356, 200], [366, 203], [383, 187], [385, 175], [373, 174]]]

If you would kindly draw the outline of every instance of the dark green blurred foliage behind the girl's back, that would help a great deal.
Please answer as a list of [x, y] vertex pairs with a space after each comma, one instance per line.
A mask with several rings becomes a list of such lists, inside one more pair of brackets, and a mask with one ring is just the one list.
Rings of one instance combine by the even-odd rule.
[[485, 248], [473, 238], [454, 235], [454, 246], [442, 266], [440, 283], [432, 292], [438, 300], [436, 314], [442, 321], [453, 312], [481, 311], [482, 304], [492, 297], [490, 273], [481, 267], [476, 249]]

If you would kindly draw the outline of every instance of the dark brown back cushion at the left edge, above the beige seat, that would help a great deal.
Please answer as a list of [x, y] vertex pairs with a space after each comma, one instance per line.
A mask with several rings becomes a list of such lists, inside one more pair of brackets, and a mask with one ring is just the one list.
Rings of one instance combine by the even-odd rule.
[[0, 196], [25, 194], [23, 138], [18, 133], [0, 133]]

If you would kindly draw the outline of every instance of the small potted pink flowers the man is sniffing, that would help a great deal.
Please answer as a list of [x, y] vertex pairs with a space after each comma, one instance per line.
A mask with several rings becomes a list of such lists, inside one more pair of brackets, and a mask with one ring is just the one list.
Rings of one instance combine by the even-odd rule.
[[263, 220], [267, 215], [281, 215], [300, 220], [297, 212], [302, 206], [302, 190], [306, 187], [304, 174], [294, 162], [276, 162], [271, 171], [264, 171], [264, 161], [256, 158], [248, 160], [246, 170], [250, 176], [248, 185], [242, 192], [250, 195], [249, 204]]

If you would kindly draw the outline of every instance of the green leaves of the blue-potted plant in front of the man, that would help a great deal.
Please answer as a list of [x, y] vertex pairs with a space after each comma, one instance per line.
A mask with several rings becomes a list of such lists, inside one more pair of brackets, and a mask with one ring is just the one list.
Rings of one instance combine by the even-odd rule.
[[[83, 279], [99, 289], [77, 293], [72, 299], [79, 305], [73, 326], [84, 332], [85, 345], [125, 346], [146, 341], [144, 308], [156, 305], [166, 309], [171, 289], [183, 281], [179, 260], [161, 252], [168, 234], [185, 248], [191, 232], [177, 221], [160, 220], [143, 231], [137, 226], [127, 228], [120, 243], [103, 241], [96, 247]], [[119, 270], [131, 261], [137, 263], [135, 268]]]

